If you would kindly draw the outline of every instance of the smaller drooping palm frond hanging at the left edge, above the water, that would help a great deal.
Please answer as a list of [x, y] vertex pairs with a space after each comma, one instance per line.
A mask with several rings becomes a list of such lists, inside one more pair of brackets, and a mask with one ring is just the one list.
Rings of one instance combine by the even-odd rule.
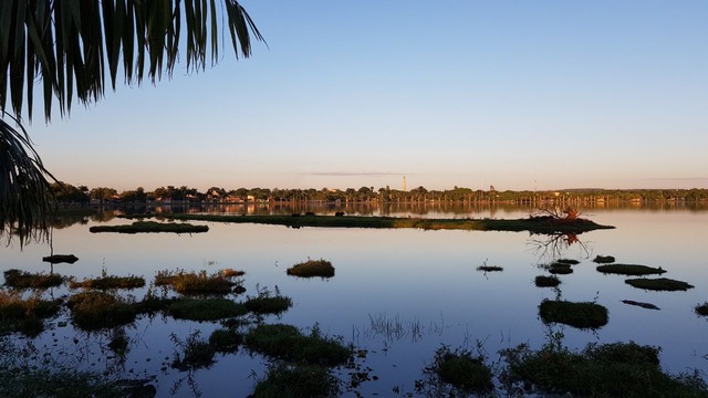
[[42, 165], [24, 128], [17, 125], [20, 130], [0, 118], [0, 237], [18, 235], [22, 245], [28, 239], [48, 238], [55, 205], [46, 177], [56, 179]]

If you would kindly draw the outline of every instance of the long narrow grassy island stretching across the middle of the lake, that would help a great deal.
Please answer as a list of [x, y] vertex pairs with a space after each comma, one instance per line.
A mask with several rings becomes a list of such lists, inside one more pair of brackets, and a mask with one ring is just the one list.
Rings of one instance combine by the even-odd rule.
[[291, 228], [416, 228], [423, 230], [468, 231], [529, 231], [533, 233], [582, 233], [598, 229], [612, 229], [586, 219], [564, 220], [553, 217], [529, 217], [525, 219], [426, 219], [402, 217], [363, 216], [221, 216], [221, 214], [167, 214], [171, 220], [197, 220], [236, 223], [260, 223]]

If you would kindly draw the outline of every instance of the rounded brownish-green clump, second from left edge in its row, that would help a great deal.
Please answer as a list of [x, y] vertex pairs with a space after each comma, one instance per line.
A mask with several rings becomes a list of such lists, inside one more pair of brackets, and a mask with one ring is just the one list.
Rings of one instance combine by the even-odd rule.
[[97, 331], [133, 323], [137, 306], [115, 294], [88, 291], [72, 295], [67, 303], [74, 324], [84, 331]]

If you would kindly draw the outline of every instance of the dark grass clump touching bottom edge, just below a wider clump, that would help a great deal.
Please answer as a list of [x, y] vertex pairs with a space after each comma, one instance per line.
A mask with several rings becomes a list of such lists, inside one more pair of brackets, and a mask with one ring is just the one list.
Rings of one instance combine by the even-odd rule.
[[[285, 392], [287, 391], [287, 392]], [[278, 364], [258, 380], [252, 397], [337, 397], [340, 381], [329, 369], [306, 364]]]

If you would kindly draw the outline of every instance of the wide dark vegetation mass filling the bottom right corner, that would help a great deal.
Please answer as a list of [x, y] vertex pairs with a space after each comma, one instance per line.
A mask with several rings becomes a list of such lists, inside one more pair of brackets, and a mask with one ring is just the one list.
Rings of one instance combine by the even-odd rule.
[[[659, 348], [635, 343], [590, 344], [582, 353], [546, 345], [501, 352], [511, 395], [572, 397], [706, 397], [700, 376], [674, 377], [659, 367]], [[517, 394], [513, 394], [517, 392]]]

